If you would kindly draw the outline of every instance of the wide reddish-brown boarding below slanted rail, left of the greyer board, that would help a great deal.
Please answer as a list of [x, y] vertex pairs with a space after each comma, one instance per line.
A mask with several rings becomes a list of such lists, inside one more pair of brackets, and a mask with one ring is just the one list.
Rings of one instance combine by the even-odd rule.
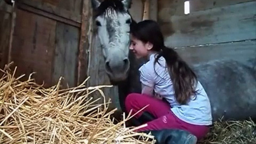
[[23, 10], [17, 10], [13, 35], [12, 61], [16, 76], [36, 72], [32, 78], [38, 84], [51, 86], [52, 60], [55, 49], [56, 21]]

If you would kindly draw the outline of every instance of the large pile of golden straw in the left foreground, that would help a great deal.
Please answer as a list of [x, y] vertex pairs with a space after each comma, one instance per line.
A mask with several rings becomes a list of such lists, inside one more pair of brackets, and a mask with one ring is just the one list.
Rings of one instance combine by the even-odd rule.
[[[16, 69], [15, 69], [16, 70]], [[25, 82], [6, 69], [0, 79], [1, 144], [153, 144], [153, 136], [127, 128], [124, 119], [113, 124], [107, 111], [103, 87], [59, 90], [60, 81], [51, 88], [36, 84], [31, 76]], [[99, 91], [103, 104], [90, 94]], [[140, 141], [134, 136], [139, 136]]]

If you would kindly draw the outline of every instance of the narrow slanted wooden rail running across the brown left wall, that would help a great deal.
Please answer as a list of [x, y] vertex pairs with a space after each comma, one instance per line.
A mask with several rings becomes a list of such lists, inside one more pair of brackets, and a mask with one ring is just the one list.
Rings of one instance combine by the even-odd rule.
[[50, 12], [46, 12], [46, 11], [41, 10], [41, 9], [37, 9], [35, 7], [29, 6], [29, 5], [24, 4], [24, 3], [17, 3], [17, 7], [19, 9], [26, 10], [28, 12], [32, 12], [32, 13], [35, 13], [37, 15], [41, 15], [41, 16], [44, 16], [46, 18], [50, 18], [50, 19], [53, 19], [55, 21], [63, 22], [65, 24], [72, 25], [72, 26], [75, 26], [75, 27], [78, 27], [78, 28], [80, 28], [80, 26], [81, 26], [81, 23], [79, 23], [77, 21], [73, 21], [71, 19], [67, 19], [67, 18], [58, 16], [58, 15], [55, 15], [53, 13], [50, 13]]

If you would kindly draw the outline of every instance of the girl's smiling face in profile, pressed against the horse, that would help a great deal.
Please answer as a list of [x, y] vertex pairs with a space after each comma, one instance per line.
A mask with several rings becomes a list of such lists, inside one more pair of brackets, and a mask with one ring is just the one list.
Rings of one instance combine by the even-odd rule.
[[129, 48], [135, 54], [137, 59], [149, 56], [152, 47], [153, 45], [151, 43], [143, 43], [131, 35], [131, 45]]

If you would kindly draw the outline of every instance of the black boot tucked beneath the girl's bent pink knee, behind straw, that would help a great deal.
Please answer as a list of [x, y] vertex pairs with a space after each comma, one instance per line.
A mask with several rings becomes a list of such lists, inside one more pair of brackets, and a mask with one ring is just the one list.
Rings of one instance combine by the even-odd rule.
[[149, 112], [143, 112], [140, 116], [140, 118], [131, 118], [130, 122], [132, 123], [133, 126], [140, 126], [144, 123], [150, 122], [152, 120], [154, 120], [154, 116], [152, 114], [150, 114]]

